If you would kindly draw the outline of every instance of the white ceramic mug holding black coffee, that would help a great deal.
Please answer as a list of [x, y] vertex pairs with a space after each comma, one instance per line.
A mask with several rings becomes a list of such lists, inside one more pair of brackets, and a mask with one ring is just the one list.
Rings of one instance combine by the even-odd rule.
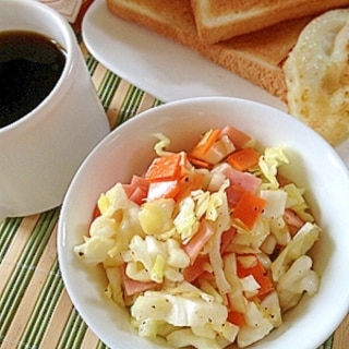
[[67, 61], [44, 101], [0, 128], [0, 222], [60, 205], [80, 164], [110, 131], [75, 34], [60, 14], [33, 0], [0, 0], [0, 33], [7, 31], [56, 39]]

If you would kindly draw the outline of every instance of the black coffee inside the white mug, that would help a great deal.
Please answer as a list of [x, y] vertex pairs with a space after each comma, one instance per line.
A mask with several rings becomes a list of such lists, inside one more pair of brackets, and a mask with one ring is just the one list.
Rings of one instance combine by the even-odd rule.
[[64, 63], [64, 49], [44, 35], [0, 33], [0, 128], [41, 103], [55, 87]]

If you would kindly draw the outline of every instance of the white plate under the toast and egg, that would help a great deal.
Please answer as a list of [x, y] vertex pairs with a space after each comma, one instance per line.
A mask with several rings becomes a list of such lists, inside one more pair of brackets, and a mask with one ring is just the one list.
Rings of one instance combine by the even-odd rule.
[[[106, 68], [163, 101], [201, 96], [241, 97], [286, 111], [278, 98], [198, 53], [112, 15], [105, 0], [82, 27], [89, 52]], [[349, 141], [336, 148], [349, 166]]]

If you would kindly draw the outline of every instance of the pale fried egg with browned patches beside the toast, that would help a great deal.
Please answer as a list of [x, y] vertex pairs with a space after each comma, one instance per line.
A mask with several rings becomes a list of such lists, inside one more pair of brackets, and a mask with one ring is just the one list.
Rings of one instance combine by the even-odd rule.
[[349, 134], [349, 9], [313, 20], [284, 64], [289, 112], [332, 145]]

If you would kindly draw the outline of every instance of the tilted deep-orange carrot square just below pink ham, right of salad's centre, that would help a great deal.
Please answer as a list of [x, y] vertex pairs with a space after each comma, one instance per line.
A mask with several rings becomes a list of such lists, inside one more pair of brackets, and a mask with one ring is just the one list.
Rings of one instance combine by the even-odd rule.
[[249, 229], [252, 229], [263, 212], [265, 203], [262, 197], [255, 196], [250, 192], [243, 192], [232, 212], [232, 218], [240, 219]]

